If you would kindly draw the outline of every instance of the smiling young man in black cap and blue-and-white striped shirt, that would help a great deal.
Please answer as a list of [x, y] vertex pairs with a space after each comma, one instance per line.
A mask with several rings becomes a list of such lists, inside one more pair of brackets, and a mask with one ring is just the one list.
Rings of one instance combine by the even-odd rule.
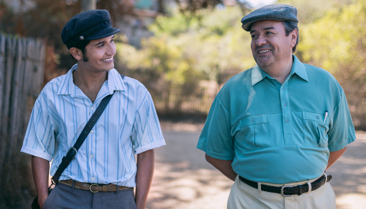
[[[21, 151], [33, 155], [41, 208], [145, 208], [153, 149], [165, 141], [147, 89], [113, 68], [113, 38], [121, 29], [110, 19], [107, 10], [91, 10], [66, 23], [61, 38], [77, 64], [46, 84], [34, 104]], [[54, 175], [101, 100], [112, 94], [48, 195], [49, 161]]]

